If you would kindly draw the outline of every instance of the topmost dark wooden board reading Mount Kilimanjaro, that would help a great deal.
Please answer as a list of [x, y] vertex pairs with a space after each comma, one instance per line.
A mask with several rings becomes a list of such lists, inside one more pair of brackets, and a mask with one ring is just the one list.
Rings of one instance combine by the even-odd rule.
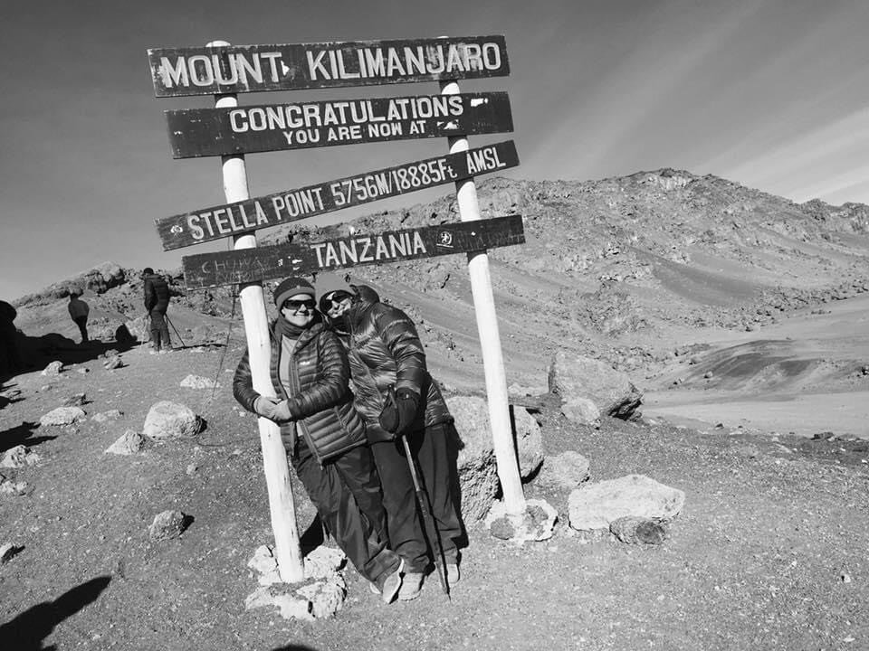
[[505, 77], [503, 36], [148, 50], [157, 97]]

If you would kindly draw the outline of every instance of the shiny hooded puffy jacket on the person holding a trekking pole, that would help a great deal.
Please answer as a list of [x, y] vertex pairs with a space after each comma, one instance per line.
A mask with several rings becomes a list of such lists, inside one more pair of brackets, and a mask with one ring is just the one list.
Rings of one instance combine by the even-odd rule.
[[380, 302], [367, 285], [352, 286], [357, 297], [349, 309], [350, 371], [356, 409], [365, 419], [371, 441], [395, 439], [380, 427], [387, 390], [408, 389], [420, 396], [414, 429], [451, 421], [444, 396], [425, 366], [425, 350], [414, 322], [397, 307]]

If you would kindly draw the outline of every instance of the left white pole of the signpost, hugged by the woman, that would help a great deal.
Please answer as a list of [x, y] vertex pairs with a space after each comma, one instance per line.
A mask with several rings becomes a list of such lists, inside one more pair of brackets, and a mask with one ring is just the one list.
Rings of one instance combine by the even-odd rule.
[[[229, 45], [213, 41], [208, 45]], [[238, 99], [234, 95], [218, 95], [215, 107], [234, 108]], [[250, 198], [244, 156], [222, 156], [224, 194], [229, 203]], [[233, 238], [234, 249], [253, 249], [256, 237], [253, 234]], [[274, 397], [270, 362], [272, 355], [269, 343], [269, 324], [265, 312], [263, 286], [253, 283], [239, 292], [244, 319], [244, 334], [251, 363], [253, 389], [264, 396]], [[269, 511], [272, 515], [274, 533], [274, 556], [278, 561], [278, 573], [285, 583], [297, 583], [305, 578], [304, 560], [301, 556], [299, 529], [296, 525], [296, 507], [292, 499], [290, 468], [287, 453], [281, 440], [281, 429], [272, 420], [259, 418], [260, 446], [263, 449], [263, 470], [269, 495]]]

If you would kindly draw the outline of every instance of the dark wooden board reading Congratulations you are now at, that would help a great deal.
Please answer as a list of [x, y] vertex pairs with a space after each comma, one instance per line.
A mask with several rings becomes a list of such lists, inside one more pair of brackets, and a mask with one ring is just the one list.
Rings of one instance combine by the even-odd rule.
[[504, 92], [166, 111], [176, 158], [513, 130]]

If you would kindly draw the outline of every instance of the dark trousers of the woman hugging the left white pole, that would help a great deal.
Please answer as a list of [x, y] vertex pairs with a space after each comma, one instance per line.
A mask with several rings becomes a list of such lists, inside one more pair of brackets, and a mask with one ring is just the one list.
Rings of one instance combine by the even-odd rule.
[[387, 516], [371, 450], [352, 448], [320, 466], [300, 437], [291, 462], [320, 520], [359, 574], [379, 585], [395, 572], [401, 559], [387, 549]]

